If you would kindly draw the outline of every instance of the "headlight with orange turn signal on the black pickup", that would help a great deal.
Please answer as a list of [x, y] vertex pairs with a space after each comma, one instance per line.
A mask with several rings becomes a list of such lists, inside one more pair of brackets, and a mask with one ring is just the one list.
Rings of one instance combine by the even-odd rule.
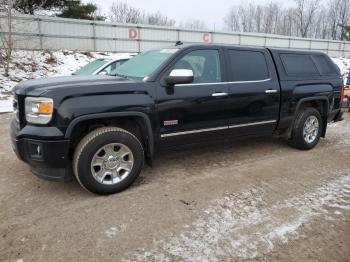
[[45, 97], [26, 97], [26, 120], [32, 124], [47, 124], [53, 113], [53, 100]]

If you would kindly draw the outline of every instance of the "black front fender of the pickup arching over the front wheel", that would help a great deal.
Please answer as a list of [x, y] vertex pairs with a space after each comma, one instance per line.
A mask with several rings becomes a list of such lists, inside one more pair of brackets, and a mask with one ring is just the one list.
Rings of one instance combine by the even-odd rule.
[[66, 98], [57, 109], [55, 125], [61, 127], [64, 137], [69, 139], [74, 128], [83, 121], [128, 116], [142, 120], [148, 138], [147, 156], [152, 159], [155, 150], [155, 105], [152, 97], [145, 93]]

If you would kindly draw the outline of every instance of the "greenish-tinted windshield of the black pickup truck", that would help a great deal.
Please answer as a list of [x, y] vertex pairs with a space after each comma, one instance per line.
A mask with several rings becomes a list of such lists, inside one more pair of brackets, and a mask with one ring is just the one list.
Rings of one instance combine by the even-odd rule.
[[116, 70], [117, 75], [144, 78], [156, 71], [170, 56], [179, 49], [152, 50], [130, 59]]

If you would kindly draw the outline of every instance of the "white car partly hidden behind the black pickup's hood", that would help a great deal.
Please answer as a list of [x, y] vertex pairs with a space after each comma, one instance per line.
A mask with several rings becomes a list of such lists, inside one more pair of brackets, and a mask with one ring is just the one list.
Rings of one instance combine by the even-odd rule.
[[73, 75], [114, 75], [118, 66], [134, 56], [135, 54], [120, 54], [114, 57], [98, 58], [77, 70]]

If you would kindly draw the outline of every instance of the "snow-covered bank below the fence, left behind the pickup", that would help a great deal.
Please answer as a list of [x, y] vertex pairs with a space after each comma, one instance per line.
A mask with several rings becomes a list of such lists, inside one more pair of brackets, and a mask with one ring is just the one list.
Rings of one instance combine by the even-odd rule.
[[11, 90], [19, 82], [49, 76], [71, 75], [96, 58], [125, 56], [102, 52], [14, 51], [10, 75], [4, 76], [0, 65], [0, 113], [12, 111]]

